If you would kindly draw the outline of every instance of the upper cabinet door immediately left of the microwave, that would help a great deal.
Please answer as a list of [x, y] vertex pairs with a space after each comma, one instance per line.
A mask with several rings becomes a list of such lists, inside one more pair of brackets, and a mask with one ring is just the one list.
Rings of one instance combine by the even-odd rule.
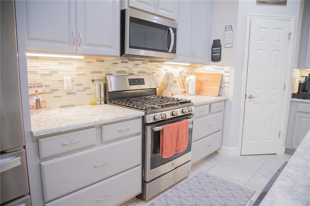
[[77, 1], [77, 52], [120, 55], [120, 1]]

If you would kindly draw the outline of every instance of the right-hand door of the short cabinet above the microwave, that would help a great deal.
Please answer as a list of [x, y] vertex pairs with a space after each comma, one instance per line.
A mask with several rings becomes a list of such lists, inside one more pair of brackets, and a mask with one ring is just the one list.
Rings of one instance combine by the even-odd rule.
[[156, 14], [176, 20], [178, 16], [178, 0], [158, 0]]

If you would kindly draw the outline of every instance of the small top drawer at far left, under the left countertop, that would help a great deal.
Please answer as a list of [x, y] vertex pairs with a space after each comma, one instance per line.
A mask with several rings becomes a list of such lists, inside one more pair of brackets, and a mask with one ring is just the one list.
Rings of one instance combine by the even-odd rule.
[[39, 157], [46, 158], [95, 144], [95, 128], [50, 136], [38, 140]]

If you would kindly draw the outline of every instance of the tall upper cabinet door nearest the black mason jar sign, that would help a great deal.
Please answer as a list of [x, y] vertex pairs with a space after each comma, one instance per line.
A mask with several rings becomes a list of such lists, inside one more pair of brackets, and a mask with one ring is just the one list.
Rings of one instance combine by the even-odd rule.
[[212, 1], [193, 1], [192, 49], [195, 63], [209, 63]]

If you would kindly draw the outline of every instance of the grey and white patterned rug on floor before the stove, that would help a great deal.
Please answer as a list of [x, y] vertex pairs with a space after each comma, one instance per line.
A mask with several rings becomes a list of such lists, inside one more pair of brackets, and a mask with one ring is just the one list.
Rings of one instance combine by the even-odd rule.
[[254, 190], [200, 172], [150, 206], [244, 206], [254, 193]]

